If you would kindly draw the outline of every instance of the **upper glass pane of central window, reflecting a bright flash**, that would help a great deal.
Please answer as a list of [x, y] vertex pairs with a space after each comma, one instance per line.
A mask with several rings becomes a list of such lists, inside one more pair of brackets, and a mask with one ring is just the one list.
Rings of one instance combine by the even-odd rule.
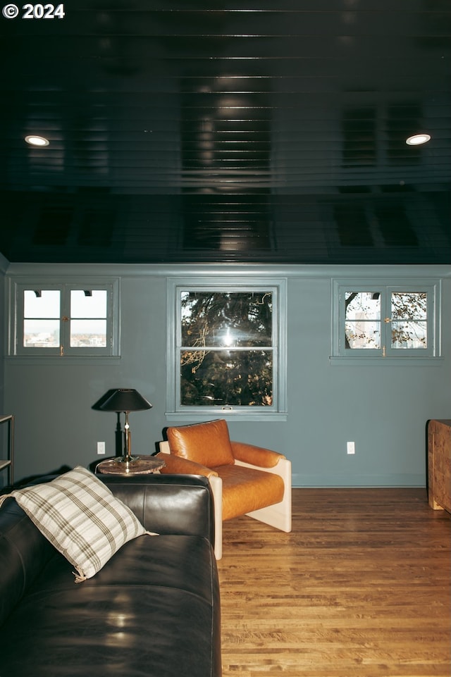
[[272, 345], [271, 292], [181, 292], [182, 345]]

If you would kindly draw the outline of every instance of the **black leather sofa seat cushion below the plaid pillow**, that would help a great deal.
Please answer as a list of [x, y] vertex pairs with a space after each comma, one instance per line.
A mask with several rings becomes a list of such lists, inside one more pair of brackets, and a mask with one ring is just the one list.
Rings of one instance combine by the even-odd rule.
[[136, 538], [83, 585], [55, 552], [4, 624], [1, 677], [218, 677], [219, 585], [206, 538]]

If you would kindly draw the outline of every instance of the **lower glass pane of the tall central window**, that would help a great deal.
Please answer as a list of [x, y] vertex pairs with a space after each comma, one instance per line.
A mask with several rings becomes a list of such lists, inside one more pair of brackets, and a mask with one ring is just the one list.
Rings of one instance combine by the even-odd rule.
[[273, 354], [266, 350], [183, 350], [180, 404], [271, 406]]

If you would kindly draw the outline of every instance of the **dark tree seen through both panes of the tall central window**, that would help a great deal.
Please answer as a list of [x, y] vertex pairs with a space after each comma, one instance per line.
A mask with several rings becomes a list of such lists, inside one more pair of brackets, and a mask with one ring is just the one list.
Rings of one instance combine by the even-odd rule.
[[180, 292], [180, 404], [273, 404], [273, 293]]

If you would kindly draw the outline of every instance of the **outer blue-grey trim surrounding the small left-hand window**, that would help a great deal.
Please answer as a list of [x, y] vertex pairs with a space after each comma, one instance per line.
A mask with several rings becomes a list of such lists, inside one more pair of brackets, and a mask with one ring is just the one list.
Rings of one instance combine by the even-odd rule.
[[[23, 335], [23, 291], [30, 289], [58, 289], [66, 294], [70, 290], [92, 289], [106, 290], [108, 298], [107, 306], [107, 345], [104, 348], [83, 347], [64, 349], [61, 355], [59, 348], [25, 348], [21, 345]], [[85, 359], [92, 361], [120, 356], [120, 281], [119, 278], [69, 278], [64, 282], [56, 282], [55, 278], [33, 276], [30, 278], [18, 278], [11, 281], [9, 290], [9, 318], [8, 318], [8, 356], [15, 361], [35, 359], [38, 361], [54, 361], [64, 359], [68, 361], [80, 361]]]

